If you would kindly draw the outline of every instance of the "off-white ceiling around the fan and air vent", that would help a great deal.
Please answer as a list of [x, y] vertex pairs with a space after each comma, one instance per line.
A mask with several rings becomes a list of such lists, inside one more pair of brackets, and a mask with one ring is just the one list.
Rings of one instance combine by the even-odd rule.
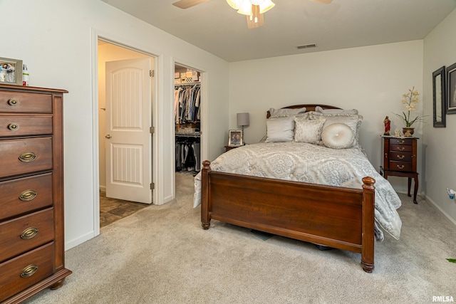
[[177, 0], [103, 1], [229, 62], [423, 39], [456, 8], [456, 0], [272, 0], [264, 26], [249, 29], [226, 0], [190, 9]]

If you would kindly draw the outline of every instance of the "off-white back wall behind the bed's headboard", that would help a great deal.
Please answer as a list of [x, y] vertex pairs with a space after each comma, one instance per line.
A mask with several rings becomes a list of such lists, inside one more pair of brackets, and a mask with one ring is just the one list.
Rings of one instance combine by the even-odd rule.
[[[402, 130], [403, 125], [393, 112], [405, 110], [402, 95], [413, 86], [423, 93], [423, 41], [230, 63], [229, 125], [237, 128], [236, 113], [249, 112], [250, 125], [245, 127], [245, 138], [247, 143], [252, 143], [266, 134], [269, 108], [301, 103], [356, 108], [364, 117], [361, 145], [379, 169], [383, 119], [388, 115], [392, 120], [391, 130]], [[423, 103], [432, 104], [432, 100]], [[423, 103], [417, 115], [422, 114]], [[415, 136], [422, 137], [421, 127], [415, 126]], [[407, 179], [388, 180], [397, 191], [406, 191]]]

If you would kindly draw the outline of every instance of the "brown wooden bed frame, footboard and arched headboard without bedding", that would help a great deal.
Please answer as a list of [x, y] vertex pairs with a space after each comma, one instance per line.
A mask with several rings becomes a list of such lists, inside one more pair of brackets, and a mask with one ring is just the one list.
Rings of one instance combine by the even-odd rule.
[[[316, 106], [286, 108], [306, 107], [306, 111], [312, 111]], [[363, 189], [351, 189], [214, 172], [209, 161], [202, 164], [203, 229], [209, 229], [211, 219], [215, 219], [353, 251], [361, 253], [363, 270], [373, 271], [375, 179], [372, 177], [363, 178]]]

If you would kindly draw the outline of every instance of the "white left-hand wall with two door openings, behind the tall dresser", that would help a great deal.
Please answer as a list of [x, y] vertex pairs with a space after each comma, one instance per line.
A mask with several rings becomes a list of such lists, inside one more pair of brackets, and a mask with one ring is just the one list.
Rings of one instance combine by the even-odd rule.
[[210, 85], [204, 93], [209, 106], [203, 111], [209, 115], [205, 127], [211, 137], [206, 143], [207, 154], [209, 159], [217, 157], [228, 126], [224, 114], [228, 112], [227, 62], [99, 0], [2, 0], [1, 9], [17, 12], [20, 18], [14, 21], [14, 30], [1, 32], [2, 40], [9, 41], [1, 43], [1, 56], [22, 59], [30, 70], [31, 85], [69, 91], [63, 117], [67, 249], [95, 236], [93, 219], [98, 216], [94, 214], [98, 181], [94, 180], [93, 158], [94, 151], [98, 156], [98, 142], [94, 140], [97, 133], [93, 120], [98, 120], [98, 110], [93, 108], [97, 98], [93, 33], [157, 56], [157, 203], [174, 196], [175, 61], [206, 72]]

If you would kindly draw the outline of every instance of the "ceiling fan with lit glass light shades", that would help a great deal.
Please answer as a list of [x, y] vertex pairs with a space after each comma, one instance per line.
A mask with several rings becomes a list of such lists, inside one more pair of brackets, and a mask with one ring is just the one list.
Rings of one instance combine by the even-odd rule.
[[[209, 0], [180, 0], [172, 5], [180, 9], [189, 9], [192, 6], [202, 4]], [[330, 4], [333, 0], [311, 0], [323, 4]], [[247, 27], [257, 28], [264, 25], [263, 14], [274, 7], [271, 0], [227, 0], [229, 6], [236, 9], [239, 14], [247, 16]]]

